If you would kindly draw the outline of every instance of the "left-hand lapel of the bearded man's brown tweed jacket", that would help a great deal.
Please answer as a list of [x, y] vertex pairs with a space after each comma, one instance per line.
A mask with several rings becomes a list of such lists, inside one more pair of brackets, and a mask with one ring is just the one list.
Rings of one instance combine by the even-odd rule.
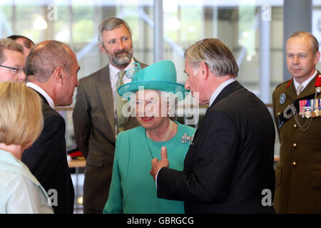
[[99, 72], [96, 86], [101, 98], [101, 103], [103, 103], [103, 109], [105, 110], [108, 122], [111, 125], [111, 129], [113, 129], [113, 133], [115, 133], [115, 113], [113, 108], [113, 92], [111, 90], [109, 64]]

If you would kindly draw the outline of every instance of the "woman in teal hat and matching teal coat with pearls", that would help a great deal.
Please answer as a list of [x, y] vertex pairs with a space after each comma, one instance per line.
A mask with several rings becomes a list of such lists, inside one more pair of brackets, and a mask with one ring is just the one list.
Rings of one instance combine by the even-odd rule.
[[[183, 170], [183, 163], [195, 128], [172, 121], [168, 113], [175, 98], [183, 100], [188, 90], [176, 83], [172, 61], [160, 61], [126, 72], [132, 79], [118, 88], [118, 94], [130, 100], [141, 126], [118, 134], [113, 177], [103, 213], [184, 213], [182, 201], [158, 199], [156, 185], [149, 174], [151, 160], [168, 151], [170, 168]], [[124, 113], [125, 110], [125, 113]], [[123, 109], [126, 115], [128, 109]], [[188, 137], [187, 137], [188, 138]]]

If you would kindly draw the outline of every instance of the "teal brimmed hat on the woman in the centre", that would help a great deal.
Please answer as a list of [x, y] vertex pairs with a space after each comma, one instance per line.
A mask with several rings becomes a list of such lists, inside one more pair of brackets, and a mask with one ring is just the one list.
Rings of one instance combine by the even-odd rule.
[[182, 84], [176, 83], [176, 70], [172, 61], [164, 60], [153, 63], [146, 68], [141, 68], [141, 64], [126, 71], [126, 76], [131, 78], [130, 83], [119, 86], [117, 92], [123, 98], [130, 100], [126, 92], [136, 93], [138, 90], [161, 90], [178, 95], [178, 100], [183, 100], [188, 95]]

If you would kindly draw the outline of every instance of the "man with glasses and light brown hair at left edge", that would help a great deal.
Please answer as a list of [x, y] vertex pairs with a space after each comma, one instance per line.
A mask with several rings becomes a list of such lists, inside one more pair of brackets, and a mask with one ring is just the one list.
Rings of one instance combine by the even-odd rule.
[[26, 79], [26, 58], [21, 44], [9, 38], [0, 39], [0, 82], [24, 82]]

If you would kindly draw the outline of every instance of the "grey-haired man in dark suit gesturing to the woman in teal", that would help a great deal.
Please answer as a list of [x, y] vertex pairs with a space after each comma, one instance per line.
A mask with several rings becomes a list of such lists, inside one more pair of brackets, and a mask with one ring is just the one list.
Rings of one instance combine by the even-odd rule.
[[215, 38], [198, 41], [185, 51], [185, 73], [185, 88], [210, 107], [182, 172], [168, 168], [164, 148], [161, 161], [152, 160], [158, 197], [183, 200], [186, 213], [274, 212], [272, 116], [235, 81], [238, 64], [230, 49]]

